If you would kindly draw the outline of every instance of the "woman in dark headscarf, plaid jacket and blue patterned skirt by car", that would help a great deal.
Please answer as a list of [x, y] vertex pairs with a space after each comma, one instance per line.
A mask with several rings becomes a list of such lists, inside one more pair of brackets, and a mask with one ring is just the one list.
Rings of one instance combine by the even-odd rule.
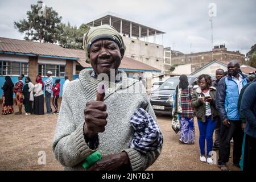
[[188, 77], [181, 75], [177, 85], [172, 107], [172, 129], [177, 133], [180, 131], [179, 140], [182, 143], [195, 143], [195, 124], [193, 117], [195, 110], [191, 106], [193, 87], [188, 84]]

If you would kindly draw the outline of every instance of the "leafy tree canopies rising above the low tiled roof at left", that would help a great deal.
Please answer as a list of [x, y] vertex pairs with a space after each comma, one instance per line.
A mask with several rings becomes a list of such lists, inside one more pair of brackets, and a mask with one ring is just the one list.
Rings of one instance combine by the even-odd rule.
[[24, 39], [56, 43], [64, 48], [82, 49], [82, 39], [89, 27], [81, 24], [77, 28], [70, 23], [61, 23], [62, 17], [52, 7], [40, 6], [42, 3], [43, 1], [38, 1], [37, 5], [31, 5], [31, 10], [27, 11], [27, 19], [14, 22], [14, 27], [25, 34]]

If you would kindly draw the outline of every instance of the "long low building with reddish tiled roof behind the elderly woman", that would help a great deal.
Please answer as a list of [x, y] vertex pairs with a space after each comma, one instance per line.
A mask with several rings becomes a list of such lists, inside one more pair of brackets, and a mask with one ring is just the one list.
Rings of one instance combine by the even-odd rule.
[[[37, 75], [42, 75], [43, 81], [47, 79], [47, 71], [52, 71], [53, 81], [59, 78], [64, 84], [64, 76], [69, 80], [79, 77], [81, 69], [92, 69], [85, 63], [83, 50], [65, 49], [51, 43], [38, 43], [25, 40], [0, 38], [0, 85], [5, 82], [5, 76], [11, 76], [15, 83], [18, 76], [29, 76], [35, 83]], [[120, 70], [133, 73], [133, 77], [144, 77], [148, 73], [158, 74], [159, 69], [141, 63], [129, 57], [123, 57]], [[2, 89], [0, 89], [0, 97]], [[62, 96], [62, 88], [60, 92]]]

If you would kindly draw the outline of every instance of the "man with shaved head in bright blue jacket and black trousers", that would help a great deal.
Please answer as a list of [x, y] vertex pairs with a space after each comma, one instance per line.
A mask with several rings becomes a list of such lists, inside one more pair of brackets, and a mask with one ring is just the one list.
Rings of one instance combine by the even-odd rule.
[[218, 166], [222, 171], [228, 171], [226, 163], [229, 161], [230, 140], [233, 137], [233, 164], [239, 167], [242, 150], [242, 122], [238, 109], [238, 98], [243, 86], [247, 84], [246, 76], [240, 71], [238, 60], [228, 64], [228, 75], [218, 82], [216, 92], [216, 107], [221, 119], [220, 149], [218, 152]]

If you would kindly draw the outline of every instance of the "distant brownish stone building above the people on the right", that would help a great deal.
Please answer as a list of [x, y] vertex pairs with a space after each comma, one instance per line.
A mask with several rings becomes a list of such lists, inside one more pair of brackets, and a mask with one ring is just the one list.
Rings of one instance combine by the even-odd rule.
[[208, 64], [210, 60], [231, 61], [237, 59], [242, 64], [245, 61], [245, 55], [239, 51], [228, 51], [225, 45], [214, 46], [212, 51], [198, 52], [190, 54], [182, 54], [176, 52], [176, 55], [172, 55], [172, 65], [191, 64], [191, 72], [195, 72], [197, 69]]

